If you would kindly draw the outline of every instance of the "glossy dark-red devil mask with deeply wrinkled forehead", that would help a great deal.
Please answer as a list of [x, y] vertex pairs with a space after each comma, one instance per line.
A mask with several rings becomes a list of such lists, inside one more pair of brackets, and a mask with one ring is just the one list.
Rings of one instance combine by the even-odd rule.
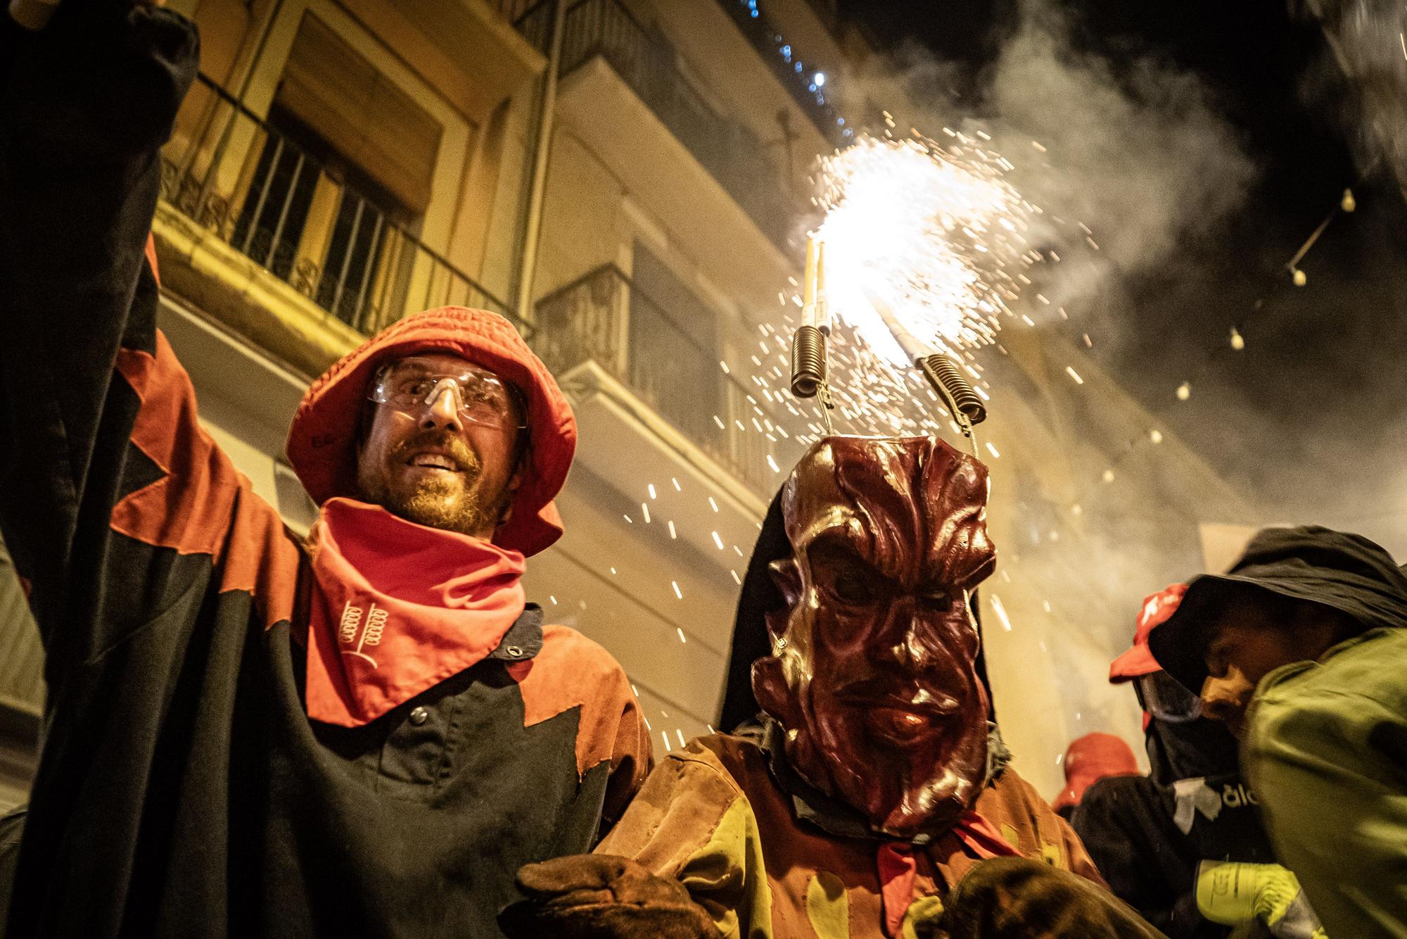
[[782, 493], [787, 610], [753, 666], [787, 756], [874, 828], [950, 828], [986, 776], [968, 591], [996, 563], [986, 467], [931, 438], [822, 439]]

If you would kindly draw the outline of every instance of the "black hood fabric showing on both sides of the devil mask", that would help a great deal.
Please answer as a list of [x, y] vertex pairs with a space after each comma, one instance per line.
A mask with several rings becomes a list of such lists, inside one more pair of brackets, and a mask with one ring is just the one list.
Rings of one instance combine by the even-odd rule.
[[[753, 545], [753, 556], [747, 562], [747, 574], [743, 577], [743, 591], [737, 597], [737, 614], [733, 617], [733, 645], [727, 656], [727, 684], [723, 688], [723, 711], [718, 718], [718, 728], [732, 732], [743, 724], [756, 722], [761, 708], [753, 697], [753, 663], [772, 653], [771, 639], [767, 635], [767, 614], [782, 610], [787, 598], [772, 580], [768, 565], [774, 560], [789, 557], [792, 553], [791, 541], [787, 538], [787, 524], [782, 518], [782, 489], [777, 490], [771, 505], [767, 507], [767, 517], [763, 519], [763, 531], [757, 534]], [[978, 614], [976, 591], [972, 591], [972, 615], [978, 617], [978, 636], [981, 638], [982, 621]], [[978, 646], [976, 674], [986, 688], [988, 719], [996, 721], [996, 705], [992, 704], [992, 684], [986, 679], [986, 645]]]

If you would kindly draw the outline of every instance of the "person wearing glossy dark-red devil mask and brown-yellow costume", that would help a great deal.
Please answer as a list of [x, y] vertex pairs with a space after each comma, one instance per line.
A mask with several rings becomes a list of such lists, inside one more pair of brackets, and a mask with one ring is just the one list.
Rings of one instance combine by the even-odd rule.
[[597, 855], [526, 867], [509, 935], [1158, 935], [988, 722], [986, 491], [931, 438], [815, 443], [739, 604], [723, 721], [756, 722], [664, 759]]

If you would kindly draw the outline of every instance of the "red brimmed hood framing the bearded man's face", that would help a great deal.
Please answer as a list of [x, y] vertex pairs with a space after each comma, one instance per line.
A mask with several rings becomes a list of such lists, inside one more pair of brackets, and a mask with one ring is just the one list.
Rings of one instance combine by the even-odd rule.
[[561, 536], [553, 498], [577, 449], [571, 405], [514, 325], [487, 310], [440, 307], [393, 322], [322, 373], [288, 428], [288, 462], [318, 505], [356, 498], [356, 445], [367, 384], [390, 359], [452, 352], [515, 384], [528, 401], [530, 465], [514, 496], [512, 518], [494, 534], [501, 548], [535, 555]]

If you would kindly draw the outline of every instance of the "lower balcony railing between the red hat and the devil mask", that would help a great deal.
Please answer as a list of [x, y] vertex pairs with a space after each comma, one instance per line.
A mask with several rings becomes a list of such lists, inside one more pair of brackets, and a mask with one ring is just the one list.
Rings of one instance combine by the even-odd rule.
[[[656, 414], [763, 498], [778, 476], [777, 446], [763, 403], [719, 367], [716, 349], [681, 328], [606, 265], [537, 303], [533, 348], [554, 373], [592, 360], [626, 384]], [[775, 458], [774, 458], [775, 459]]]

